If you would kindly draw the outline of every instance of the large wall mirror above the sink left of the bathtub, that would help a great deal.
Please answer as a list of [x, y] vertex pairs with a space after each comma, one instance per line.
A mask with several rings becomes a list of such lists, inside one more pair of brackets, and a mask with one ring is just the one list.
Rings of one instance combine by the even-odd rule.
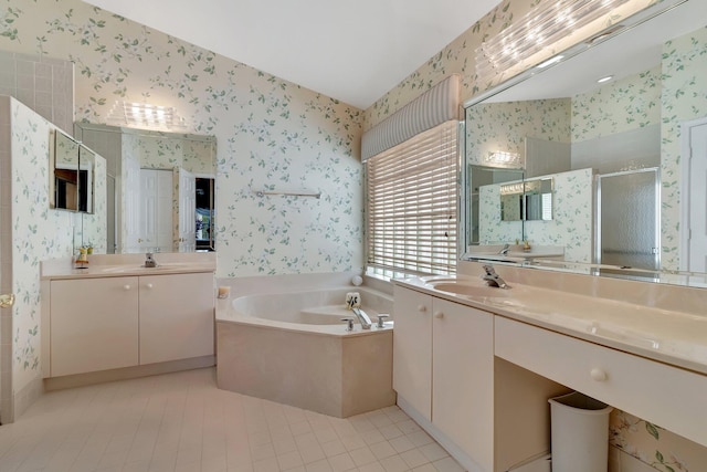
[[213, 251], [214, 136], [89, 123], [76, 136], [107, 165], [107, 252]]

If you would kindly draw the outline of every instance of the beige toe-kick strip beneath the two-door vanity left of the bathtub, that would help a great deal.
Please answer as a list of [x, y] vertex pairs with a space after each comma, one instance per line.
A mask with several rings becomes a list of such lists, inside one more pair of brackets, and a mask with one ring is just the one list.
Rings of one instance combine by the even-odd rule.
[[125, 367], [122, 369], [75, 374], [63, 377], [50, 377], [44, 379], [44, 389], [46, 391], [63, 390], [65, 388], [84, 387], [87, 385], [103, 384], [107, 381], [127, 380], [160, 374], [178, 373], [181, 370], [199, 369], [202, 367], [211, 367], [215, 364], [215, 356], [210, 355], [192, 357], [189, 359], [170, 360], [168, 363], [148, 364], [146, 366]]

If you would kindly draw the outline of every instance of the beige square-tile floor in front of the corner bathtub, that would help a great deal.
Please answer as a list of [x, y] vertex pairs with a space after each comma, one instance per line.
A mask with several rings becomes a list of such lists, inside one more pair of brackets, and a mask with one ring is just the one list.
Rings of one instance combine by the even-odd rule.
[[460, 472], [398, 407], [331, 418], [215, 387], [213, 368], [61, 390], [0, 427], [0, 471]]

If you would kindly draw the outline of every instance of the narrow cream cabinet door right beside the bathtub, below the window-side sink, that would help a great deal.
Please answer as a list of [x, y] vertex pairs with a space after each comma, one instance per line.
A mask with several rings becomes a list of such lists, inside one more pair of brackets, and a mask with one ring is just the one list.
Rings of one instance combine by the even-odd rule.
[[432, 297], [395, 286], [394, 300], [393, 389], [431, 420]]

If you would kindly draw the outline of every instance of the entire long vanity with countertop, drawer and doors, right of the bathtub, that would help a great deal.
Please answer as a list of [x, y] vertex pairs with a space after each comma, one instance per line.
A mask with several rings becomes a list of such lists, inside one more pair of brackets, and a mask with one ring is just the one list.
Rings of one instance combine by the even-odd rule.
[[462, 465], [506, 471], [549, 451], [547, 400], [569, 389], [707, 444], [707, 318], [510, 285], [395, 283], [398, 403]]

